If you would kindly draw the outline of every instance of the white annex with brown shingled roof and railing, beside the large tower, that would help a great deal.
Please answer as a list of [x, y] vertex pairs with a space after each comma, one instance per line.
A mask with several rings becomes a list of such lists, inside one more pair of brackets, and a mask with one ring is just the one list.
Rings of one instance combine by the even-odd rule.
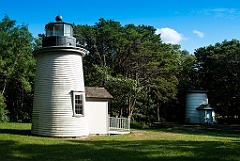
[[130, 118], [110, 117], [108, 101], [112, 99], [103, 87], [85, 87], [85, 115], [90, 135], [129, 134]]

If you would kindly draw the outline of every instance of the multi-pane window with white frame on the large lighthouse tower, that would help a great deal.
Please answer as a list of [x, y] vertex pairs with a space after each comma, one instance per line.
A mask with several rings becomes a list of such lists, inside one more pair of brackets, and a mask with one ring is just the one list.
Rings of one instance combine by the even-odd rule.
[[84, 95], [82, 92], [73, 91], [73, 112], [74, 116], [83, 115], [83, 98]]

